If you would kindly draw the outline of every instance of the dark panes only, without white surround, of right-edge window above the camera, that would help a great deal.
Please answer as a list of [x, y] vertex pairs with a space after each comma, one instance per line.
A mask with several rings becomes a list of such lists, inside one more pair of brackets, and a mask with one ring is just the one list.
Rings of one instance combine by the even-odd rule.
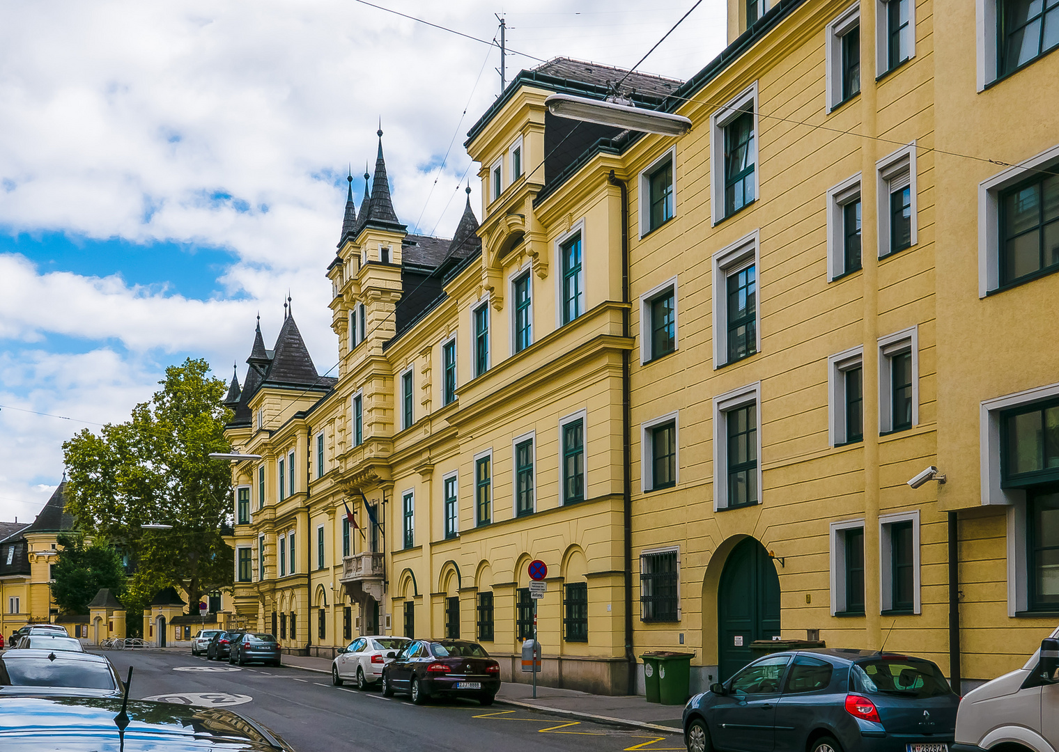
[[[1055, 15], [1059, 35], [1059, 5]], [[1000, 227], [1001, 285], [1059, 269], [1059, 176], [1001, 191]]]

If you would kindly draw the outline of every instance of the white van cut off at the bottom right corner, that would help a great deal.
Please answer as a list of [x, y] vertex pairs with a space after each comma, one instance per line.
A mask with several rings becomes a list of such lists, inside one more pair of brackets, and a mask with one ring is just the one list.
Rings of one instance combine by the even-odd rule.
[[1059, 751], [1059, 629], [1026, 665], [967, 693], [952, 752]]

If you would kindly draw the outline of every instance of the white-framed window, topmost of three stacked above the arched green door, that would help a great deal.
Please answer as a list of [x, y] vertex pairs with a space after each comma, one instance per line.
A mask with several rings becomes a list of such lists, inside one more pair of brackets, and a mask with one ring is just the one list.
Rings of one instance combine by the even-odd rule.
[[758, 195], [757, 81], [710, 116], [713, 223], [750, 205]]

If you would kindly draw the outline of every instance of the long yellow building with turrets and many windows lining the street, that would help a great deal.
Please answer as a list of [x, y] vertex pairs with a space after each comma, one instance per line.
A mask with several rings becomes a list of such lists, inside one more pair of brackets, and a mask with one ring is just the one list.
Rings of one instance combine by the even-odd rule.
[[[626, 692], [666, 648], [699, 687], [774, 638], [1024, 661], [1059, 619], [1059, 57], [1009, 4], [730, 0], [686, 82], [523, 71], [451, 243], [407, 234], [380, 147], [337, 380], [262, 343], [233, 384], [236, 608], [297, 649], [475, 638], [518, 679], [541, 558], [549, 683]], [[689, 129], [545, 104], [615, 89]]]

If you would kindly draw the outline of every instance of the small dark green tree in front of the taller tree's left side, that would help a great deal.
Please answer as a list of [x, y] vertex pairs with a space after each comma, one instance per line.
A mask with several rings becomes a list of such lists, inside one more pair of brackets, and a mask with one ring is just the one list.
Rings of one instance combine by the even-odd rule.
[[100, 542], [88, 546], [80, 535], [61, 534], [58, 545], [59, 554], [52, 569], [52, 598], [64, 612], [88, 613], [88, 604], [101, 587], [110, 588], [121, 598], [127, 577], [118, 551]]

